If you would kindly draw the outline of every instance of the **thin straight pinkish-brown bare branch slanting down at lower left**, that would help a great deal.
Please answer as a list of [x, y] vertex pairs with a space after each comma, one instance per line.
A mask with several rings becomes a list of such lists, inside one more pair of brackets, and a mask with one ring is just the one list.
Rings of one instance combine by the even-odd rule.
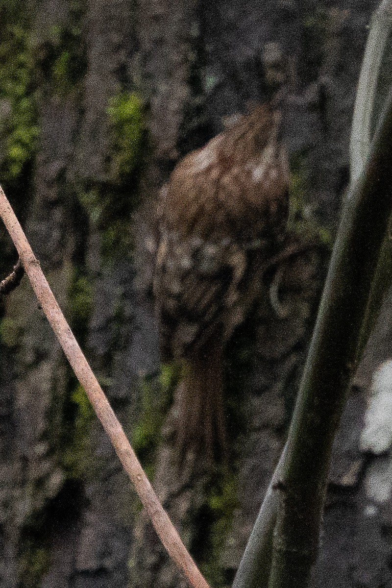
[[22, 260], [26, 274], [31, 282], [36, 297], [41, 303], [42, 310], [49, 320], [53, 331], [60, 345], [62, 346], [69, 363], [78, 377], [79, 382], [86, 391], [89, 400], [96, 412], [103, 428], [108, 434], [113, 447], [119, 456], [126, 473], [135, 485], [143, 506], [146, 509], [153, 526], [158, 533], [159, 539], [165, 546], [167, 553], [175, 561], [176, 565], [183, 570], [189, 583], [194, 588], [209, 588], [206, 580], [197, 569], [195, 562], [187, 552], [179, 534], [170, 521], [167, 513], [162, 508], [150, 482], [143, 472], [128, 439], [123, 432], [115, 413], [110, 406], [108, 399], [103, 393], [99, 383], [94, 376], [81, 348], [66, 322], [52, 290], [46, 281], [38, 260], [26, 239], [18, 219], [11, 208], [1, 186], [0, 186], [0, 215], [4, 220], [6, 229], [14, 241], [16, 249]]

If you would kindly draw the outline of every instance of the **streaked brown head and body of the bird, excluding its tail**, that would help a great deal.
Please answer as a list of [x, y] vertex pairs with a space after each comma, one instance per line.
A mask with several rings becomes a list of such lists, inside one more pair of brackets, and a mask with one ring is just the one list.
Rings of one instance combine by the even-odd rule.
[[180, 161], [158, 205], [154, 290], [163, 355], [226, 340], [257, 296], [287, 223], [279, 116], [258, 106]]

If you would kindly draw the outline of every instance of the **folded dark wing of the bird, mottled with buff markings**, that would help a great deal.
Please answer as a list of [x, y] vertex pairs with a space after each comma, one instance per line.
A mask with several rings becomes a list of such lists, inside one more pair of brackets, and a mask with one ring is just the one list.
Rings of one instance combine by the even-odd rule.
[[237, 302], [245, 269], [246, 252], [229, 239], [162, 236], [154, 292], [164, 356], [186, 357], [219, 333], [227, 309]]

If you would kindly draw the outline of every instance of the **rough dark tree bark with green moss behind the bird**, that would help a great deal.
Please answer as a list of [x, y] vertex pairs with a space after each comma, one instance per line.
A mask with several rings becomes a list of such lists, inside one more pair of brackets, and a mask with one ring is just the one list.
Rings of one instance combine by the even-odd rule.
[[[376, 5], [0, 2], [0, 182], [214, 588], [231, 585], [284, 443], [349, 179], [351, 116]], [[177, 375], [159, 365], [145, 249], [153, 202], [180, 156], [277, 85], [293, 222], [313, 235], [288, 269], [302, 285], [290, 293], [287, 318], [264, 303], [230, 346], [230, 473], [177, 477], [170, 469]], [[5, 276], [16, 255], [4, 228], [0, 240]], [[337, 436], [315, 587], [392, 581], [390, 447], [360, 445], [371, 376], [392, 354], [390, 308], [386, 300]], [[0, 312], [1, 585], [186, 586], [27, 279]]]

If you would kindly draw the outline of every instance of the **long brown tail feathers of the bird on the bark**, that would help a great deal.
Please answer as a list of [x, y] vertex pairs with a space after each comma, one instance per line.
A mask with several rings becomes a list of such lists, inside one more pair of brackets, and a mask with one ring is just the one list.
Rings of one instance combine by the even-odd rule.
[[223, 348], [212, 342], [189, 356], [179, 394], [179, 462], [190, 454], [206, 465], [225, 463], [227, 440]]

